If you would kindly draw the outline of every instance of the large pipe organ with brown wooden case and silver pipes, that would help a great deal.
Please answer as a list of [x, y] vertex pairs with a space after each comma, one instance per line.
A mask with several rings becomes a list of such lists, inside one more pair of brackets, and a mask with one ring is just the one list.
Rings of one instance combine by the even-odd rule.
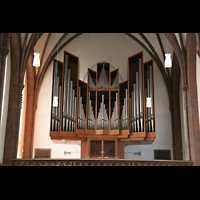
[[143, 52], [128, 58], [121, 83], [107, 62], [79, 80], [79, 58], [66, 51], [53, 65], [51, 139], [81, 140], [81, 158], [102, 159], [124, 158], [124, 141], [155, 140], [154, 62], [143, 63]]

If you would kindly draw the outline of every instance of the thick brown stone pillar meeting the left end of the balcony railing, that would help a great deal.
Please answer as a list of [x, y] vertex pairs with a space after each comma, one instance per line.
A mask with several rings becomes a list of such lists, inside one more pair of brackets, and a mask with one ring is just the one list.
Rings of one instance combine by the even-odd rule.
[[10, 36], [11, 76], [3, 165], [12, 165], [12, 159], [17, 157], [22, 89], [24, 88], [23, 77], [20, 76], [20, 35], [11, 33]]

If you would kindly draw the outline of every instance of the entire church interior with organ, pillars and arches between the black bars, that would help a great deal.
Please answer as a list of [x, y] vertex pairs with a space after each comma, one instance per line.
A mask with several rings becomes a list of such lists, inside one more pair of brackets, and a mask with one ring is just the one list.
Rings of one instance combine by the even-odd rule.
[[0, 166], [200, 165], [199, 33], [0, 33]]

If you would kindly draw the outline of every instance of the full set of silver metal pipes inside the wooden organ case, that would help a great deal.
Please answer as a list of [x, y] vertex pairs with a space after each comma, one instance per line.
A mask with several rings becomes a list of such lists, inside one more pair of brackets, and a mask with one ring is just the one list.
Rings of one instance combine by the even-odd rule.
[[[128, 94], [128, 88], [125, 88], [125, 91], [123, 96], [123, 104], [120, 108], [121, 111], [118, 111], [119, 106], [119, 93], [118, 93], [118, 74], [116, 72], [110, 72], [112, 75], [110, 75], [112, 79], [112, 84], [110, 86], [110, 89], [114, 91], [109, 91], [111, 94], [115, 94], [116, 96], [112, 95], [112, 98], [110, 101], [112, 101], [112, 111], [110, 111], [109, 116], [106, 112], [106, 103], [105, 102], [105, 94], [109, 93], [108, 91], [101, 95], [100, 99], [96, 99], [97, 101], [101, 101], [100, 107], [98, 108], [96, 117], [97, 117], [97, 127], [96, 129], [101, 130], [108, 130], [109, 129], [109, 117], [110, 117], [110, 129], [111, 130], [127, 130], [129, 128], [130, 123], [130, 132], [144, 132], [144, 126], [146, 127], [147, 132], [154, 132], [154, 95], [153, 95], [153, 68], [152, 66], [149, 66], [149, 69], [147, 70], [147, 80], [145, 82], [146, 88], [145, 88], [145, 96], [148, 96], [151, 98], [151, 107], [146, 108], [144, 110], [144, 97], [143, 97], [143, 65], [142, 65], [142, 59], [138, 59], [139, 61], [139, 67], [136, 68], [135, 74], [133, 75], [131, 79], [133, 82], [131, 82], [130, 91]], [[135, 61], [134, 61], [135, 62]], [[87, 99], [87, 110], [84, 110], [85, 106], [83, 105], [83, 102], [85, 102], [85, 97], [83, 101], [83, 97], [81, 96], [82, 86], [79, 86], [79, 92], [76, 96], [76, 84], [74, 82], [72, 71], [69, 68], [69, 56], [65, 55], [65, 63], [64, 63], [64, 74], [63, 74], [63, 82], [61, 81], [61, 73], [60, 69], [58, 69], [58, 62], [54, 63], [54, 75], [53, 75], [53, 97], [58, 98], [58, 106], [54, 107], [52, 105], [52, 119], [51, 119], [51, 131], [69, 131], [69, 132], [76, 132], [76, 128], [78, 129], [86, 129], [86, 123], [87, 128], [91, 130], [95, 130], [95, 112], [92, 105], [94, 105], [94, 99], [91, 100], [91, 94], [92, 97], [97, 98], [96, 94], [97, 91], [88, 91], [88, 99]], [[94, 74], [88, 73], [88, 88], [89, 89], [100, 89], [102, 91], [109, 89], [109, 79], [107, 77], [107, 71], [105, 70], [105, 64], [101, 65], [102, 68], [99, 74], [99, 79], [97, 80], [97, 86], [96, 83], [94, 83], [93, 78]], [[59, 65], [60, 67], [60, 65]], [[98, 68], [99, 69], [99, 68]], [[146, 70], [146, 69], [145, 69]], [[59, 73], [58, 73], [59, 72]], [[93, 72], [94, 73], [94, 72]], [[114, 77], [115, 76], [115, 77]], [[111, 81], [111, 80], [110, 80]], [[63, 91], [62, 90], [62, 84], [63, 84]], [[127, 86], [126, 86], [127, 87]], [[124, 86], [122, 87], [124, 88]], [[61, 92], [63, 92], [63, 95], [61, 95]], [[92, 93], [91, 93], [92, 92]], [[114, 92], [114, 93], [113, 93]], [[83, 93], [83, 91], [82, 91]], [[63, 97], [63, 99], [61, 99]], [[128, 99], [129, 98], [129, 99]], [[130, 100], [130, 107], [128, 107], [128, 100]], [[77, 105], [76, 105], [76, 102]], [[62, 106], [61, 106], [62, 103]], [[97, 105], [97, 104], [96, 104]], [[99, 102], [98, 102], [99, 105]], [[130, 110], [128, 110], [130, 108]], [[61, 110], [62, 109], [62, 110]], [[76, 109], [77, 109], [77, 127], [76, 127]], [[86, 122], [86, 112], [87, 112], [87, 122]], [[129, 115], [130, 112], [130, 115]], [[146, 118], [144, 121], [144, 112], [146, 112]], [[118, 116], [119, 115], [119, 116]], [[60, 116], [61, 119], [60, 119]], [[130, 116], [130, 121], [128, 121], [128, 116]], [[120, 123], [118, 123], [118, 120], [120, 120]], [[62, 124], [62, 126], [61, 126]], [[118, 127], [119, 126], [119, 127]]]

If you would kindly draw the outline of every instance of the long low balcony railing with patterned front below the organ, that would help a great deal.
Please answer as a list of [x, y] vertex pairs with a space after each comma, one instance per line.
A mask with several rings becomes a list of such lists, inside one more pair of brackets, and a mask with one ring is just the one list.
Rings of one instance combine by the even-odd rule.
[[131, 159], [14, 159], [13, 166], [194, 166], [194, 162]]

